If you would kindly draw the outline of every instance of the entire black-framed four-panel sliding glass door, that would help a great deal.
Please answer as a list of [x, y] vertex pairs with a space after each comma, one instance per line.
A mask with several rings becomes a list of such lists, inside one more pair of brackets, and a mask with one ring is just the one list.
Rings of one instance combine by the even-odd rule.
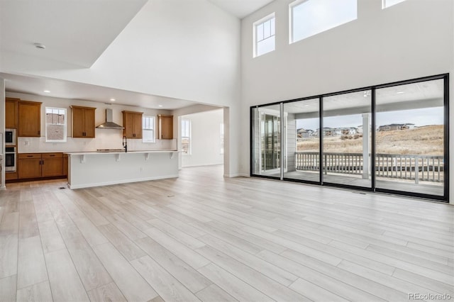
[[251, 174], [448, 200], [448, 74], [251, 108]]

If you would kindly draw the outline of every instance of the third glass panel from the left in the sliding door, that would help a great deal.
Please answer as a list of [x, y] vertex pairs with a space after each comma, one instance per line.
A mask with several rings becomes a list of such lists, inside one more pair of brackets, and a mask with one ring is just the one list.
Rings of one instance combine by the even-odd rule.
[[323, 98], [323, 182], [372, 188], [370, 90]]

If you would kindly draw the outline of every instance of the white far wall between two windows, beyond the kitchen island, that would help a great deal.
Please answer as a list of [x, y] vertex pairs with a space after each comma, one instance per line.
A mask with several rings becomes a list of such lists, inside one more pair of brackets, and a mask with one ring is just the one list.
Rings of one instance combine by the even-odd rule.
[[191, 154], [182, 155], [182, 167], [223, 164], [221, 123], [223, 109], [182, 116], [191, 121]]

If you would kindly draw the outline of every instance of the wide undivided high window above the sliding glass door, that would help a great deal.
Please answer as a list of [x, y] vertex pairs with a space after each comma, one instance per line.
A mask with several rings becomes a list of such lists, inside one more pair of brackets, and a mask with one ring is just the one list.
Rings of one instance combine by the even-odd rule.
[[289, 5], [289, 18], [294, 43], [358, 18], [357, 0], [297, 0]]

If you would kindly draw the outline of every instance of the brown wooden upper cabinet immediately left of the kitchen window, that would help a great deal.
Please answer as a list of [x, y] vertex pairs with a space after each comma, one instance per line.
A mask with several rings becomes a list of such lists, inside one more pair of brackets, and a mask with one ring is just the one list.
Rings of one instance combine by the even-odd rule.
[[41, 136], [41, 103], [18, 101], [18, 136]]

